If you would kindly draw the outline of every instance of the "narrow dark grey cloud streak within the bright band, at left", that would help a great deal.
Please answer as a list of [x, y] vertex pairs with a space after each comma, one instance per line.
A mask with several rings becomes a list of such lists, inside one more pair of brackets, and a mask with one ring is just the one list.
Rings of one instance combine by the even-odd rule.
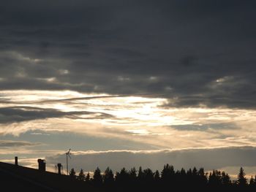
[[61, 117], [80, 119], [79, 115], [94, 115], [93, 117], [84, 119], [113, 118], [113, 115], [102, 112], [61, 112], [59, 110], [42, 109], [39, 107], [2, 107], [0, 108], [0, 123], [14, 123], [27, 120]]

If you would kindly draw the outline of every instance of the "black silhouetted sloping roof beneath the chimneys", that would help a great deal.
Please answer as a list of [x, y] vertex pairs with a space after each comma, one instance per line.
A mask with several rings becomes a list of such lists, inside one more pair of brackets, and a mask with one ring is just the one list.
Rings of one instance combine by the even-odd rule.
[[0, 191], [101, 191], [67, 175], [0, 162]]

